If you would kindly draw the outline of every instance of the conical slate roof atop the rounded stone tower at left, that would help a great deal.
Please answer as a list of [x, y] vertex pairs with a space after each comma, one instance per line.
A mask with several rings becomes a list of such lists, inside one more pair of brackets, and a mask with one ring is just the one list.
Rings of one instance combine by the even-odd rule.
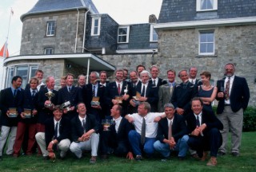
[[98, 14], [98, 10], [92, 0], [38, 0], [30, 11], [26, 14], [22, 14], [21, 20], [30, 14], [43, 14], [76, 9], [90, 9], [91, 14]]

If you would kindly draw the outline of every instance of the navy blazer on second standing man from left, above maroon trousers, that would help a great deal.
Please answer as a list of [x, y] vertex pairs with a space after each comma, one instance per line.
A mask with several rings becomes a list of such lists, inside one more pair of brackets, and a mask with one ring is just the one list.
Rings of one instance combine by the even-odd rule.
[[[32, 110], [38, 110], [38, 92], [35, 93], [34, 97], [32, 97], [30, 88], [25, 89], [25, 91], [22, 93], [22, 107], [19, 111], [24, 111], [24, 108], [31, 109], [31, 115]], [[22, 123], [37, 123], [38, 122], [38, 114], [32, 115], [30, 119], [22, 119], [21, 116], [19, 116], [18, 120]]]

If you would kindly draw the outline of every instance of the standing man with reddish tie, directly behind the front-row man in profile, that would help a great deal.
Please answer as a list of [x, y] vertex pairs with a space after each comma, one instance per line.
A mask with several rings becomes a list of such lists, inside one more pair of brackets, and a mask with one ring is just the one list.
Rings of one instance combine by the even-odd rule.
[[[123, 80], [123, 73], [122, 69], [115, 71], [115, 81], [106, 86], [104, 93], [108, 111], [110, 111], [114, 104], [120, 104], [122, 106], [122, 116], [127, 114], [128, 104], [132, 93], [130, 84]], [[120, 92], [118, 92], [118, 87]], [[125, 92], [125, 90], [127, 90], [127, 92]], [[122, 103], [119, 103], [116, 97], [119, 97], [122, 100]]]

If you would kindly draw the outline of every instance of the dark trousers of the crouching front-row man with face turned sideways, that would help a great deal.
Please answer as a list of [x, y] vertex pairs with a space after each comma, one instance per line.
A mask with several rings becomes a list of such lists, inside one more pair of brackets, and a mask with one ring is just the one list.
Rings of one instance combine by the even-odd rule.
[[[127, 140], [128, 142], [128, 140]], [[101, 134], [101, 152], [107, 154], [112, 148], [117, 156], [126, 156], [128, 153], [128, 145], [125, 141], [118, 141], [110, 131], [102, 131]]]

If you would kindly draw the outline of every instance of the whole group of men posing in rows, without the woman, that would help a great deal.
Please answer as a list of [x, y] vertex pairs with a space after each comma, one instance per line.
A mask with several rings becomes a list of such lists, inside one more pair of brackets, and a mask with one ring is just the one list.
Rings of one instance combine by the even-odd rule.
[[[203, 109], [197, 97], [198, 85], [202, 84], [196, 78], [197, 68], [178, 72], [180, 84], [173, 69], [166, 72], [167, 80], [159, 78], [158, 72], [155, 65], [150, 72], [138, 65], [128, 79], [128, 71], [118, 69], [110, 83], [105, 71], [90, 72], [90, 84], [85, 84], [86, 77], [81, 75], [77, 87], [74, 75], [68, 73], [58, 91], [54, 90], [53, 76], [42, 83], [42, 70], [24, 90], [22, 77], [14, 76], [11, 87], [0, 95], [0, 159], [9, 135], [6, 154], [14, 157], [21, 149], [32, 154], [37, 142], [38, 154], [51, 159], [58, 150], [60, 158], [68, 151], [76, 158], [91, 151], [92, 163], [98, 154], [102, 158], [114, 153], [142, 160], [142, 155], [150, 157], [155, 151], [164, 159], [178, 151], [182, 160], [190, 150], [194, 158], [202, 160], [210, 151], [207, 166], [216, 166], [217, 154], [227, 153], [229, 131], [231, 153], [238, 156], [242, 115], [250, 92], [246, 79], [234, 76], [234, 65], [225, 65], [225, 78], [217, 82], [217, 116]], [[11, 109], [16, 109], [17, 117]]]

